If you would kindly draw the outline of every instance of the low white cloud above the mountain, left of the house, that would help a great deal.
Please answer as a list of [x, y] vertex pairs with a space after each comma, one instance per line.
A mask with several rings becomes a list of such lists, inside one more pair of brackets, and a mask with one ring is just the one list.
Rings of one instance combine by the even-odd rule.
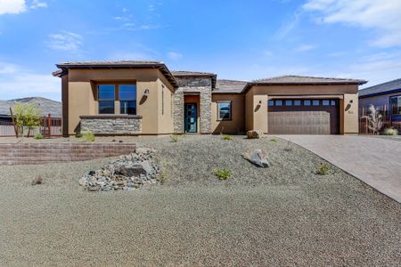
[[1, 62], [0, 92], [2, 99], [25, 96], [51, 96], [57, 99], [61, 92], [61, 81], [51, 73], [35, 73], [16, 64]]

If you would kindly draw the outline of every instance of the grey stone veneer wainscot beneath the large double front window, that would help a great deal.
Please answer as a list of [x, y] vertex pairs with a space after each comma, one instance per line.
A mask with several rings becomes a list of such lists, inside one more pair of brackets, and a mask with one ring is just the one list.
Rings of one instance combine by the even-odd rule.
[[142, 134], [142, 116], [138, 115], [94, 115], [81, 116], [81, 129], [98, 135]]

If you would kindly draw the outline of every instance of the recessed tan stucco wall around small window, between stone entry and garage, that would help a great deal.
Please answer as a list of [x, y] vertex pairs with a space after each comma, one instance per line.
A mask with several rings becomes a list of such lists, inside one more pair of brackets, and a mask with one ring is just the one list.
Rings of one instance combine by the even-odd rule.
[[[231, 120], [217, 120], [218, 101], [232, 101]], [[238, 134], [245, 131], [245, 97], [243, 94], [212, 94], [211, 109], [213, 134]]]

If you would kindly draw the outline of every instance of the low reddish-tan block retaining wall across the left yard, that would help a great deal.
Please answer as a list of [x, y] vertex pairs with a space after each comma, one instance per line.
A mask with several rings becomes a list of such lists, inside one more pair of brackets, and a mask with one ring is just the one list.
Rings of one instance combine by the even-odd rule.
[[136, 143], [0, 143], [0, 166], [70, 162], [134, 152]]

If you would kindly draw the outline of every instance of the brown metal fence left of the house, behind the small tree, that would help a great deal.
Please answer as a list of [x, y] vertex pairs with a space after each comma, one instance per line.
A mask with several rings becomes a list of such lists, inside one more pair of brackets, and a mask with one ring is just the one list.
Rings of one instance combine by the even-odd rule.
[[[32, 128], [29, 136], [42, 134], [44, 137], [61, 136], [61, 117], [43, 117], [40, 126]], [[24, 136], [28, 134], [28, 129], [24, 129]], [[0, 125], [0, 137], [15, 136], [15, 127], [10, 121], [3, 121]]]

